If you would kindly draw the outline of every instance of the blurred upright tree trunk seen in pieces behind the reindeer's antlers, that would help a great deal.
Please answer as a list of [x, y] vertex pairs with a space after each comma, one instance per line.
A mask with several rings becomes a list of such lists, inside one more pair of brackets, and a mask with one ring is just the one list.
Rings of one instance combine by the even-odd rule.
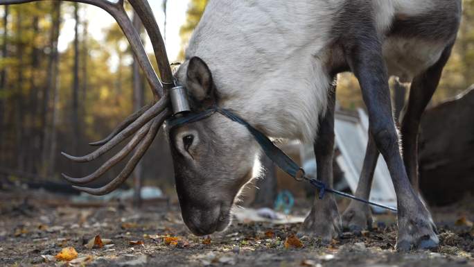
[[[133, 14], [133, 26], [137, 29], [138, 33], [141, 33], [143, 25], [137, 15], [136, 12]], [[144, 105], [144, 98], [143, 98], [143, 83], [140, 76], [140, 68], [137, 62], [137, 58], [134, 57], [132, 62], [132, 83], [133, 83], [133, 109], [139, 110]], [[134, 198], [133, 203], [135, 206], [141, 206], [141, 187], [143, 183], [143, 164], [140, 161], [135, 167], [134, 170]]]

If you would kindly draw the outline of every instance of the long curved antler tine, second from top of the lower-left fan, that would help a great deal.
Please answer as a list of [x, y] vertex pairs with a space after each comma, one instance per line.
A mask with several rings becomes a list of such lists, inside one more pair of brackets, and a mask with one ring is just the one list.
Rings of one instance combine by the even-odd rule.
[[165, 92], [164, 96], [157, 103], [155, 103], [155, 105], [153, 105], [152, 107], [150, 107], [150, 109], [148, 109], [145, 113], [143, 113], [139, 117], [139, 119], [137, 119], [133, 123], [130, 123], [130, 125], [127, 128], [125, 128], [118, 135], [116, 135], [106, 144], [104, 144], [103, 146], [95, 150], [94, 152], [90, 153], [89, 155], [85, 155], [82, 157], [74, 157], [64, 152], [62, 152], [61, 154], [64, 155], [64, 157], [67, 157], [69, 160], [73, 160], [74, 162], [90, 162], [91, 160], [95, 160], [100, 155], [103, 155], [110, 149], [114, 148], [117, 144], [120, 144], [121, 141], [130, 137], [130, 135], [136, 132], [145, 123], [147, 123], [148, 121], [156, 117], [157, 114], [159, 114], [161, 111], [163, 111], [166, 108], [166, 106], [168, 105], [168, 101], [169, 101], [168, 92]]

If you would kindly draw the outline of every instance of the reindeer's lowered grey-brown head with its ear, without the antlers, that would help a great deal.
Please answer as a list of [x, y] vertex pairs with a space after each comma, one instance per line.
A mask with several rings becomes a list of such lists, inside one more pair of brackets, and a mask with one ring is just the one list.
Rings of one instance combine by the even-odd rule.
[[[211, 71], [200, 58], [182, 64], [176, 77], [188, 89], [192, 110], [218, 104]], [[256, 141], [218, 113], [171, 128], [168, 136], [184, 222], [196, 235], [224, 230], [234, 199], [252, 178]]]

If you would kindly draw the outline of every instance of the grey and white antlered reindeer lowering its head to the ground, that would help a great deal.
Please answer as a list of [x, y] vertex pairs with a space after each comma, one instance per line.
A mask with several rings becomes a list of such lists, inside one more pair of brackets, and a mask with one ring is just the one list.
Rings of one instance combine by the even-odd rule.
[[[33, 0], [0, 3], [28, 1]], [[123, 0], [78, 2], [99, 6], [116, 19], [139, 59], [155, 101], [125, 119], [109, 137], [92, 143], [101, 146], [93, 153], [83, 157], [64, 154], [76, 162], [87, 162], [135, 134], [96, 172], [85, 178], [65, 176], [77, 189], [105, 194], [128, 178], [159, 126], [171, 115], [169, 91], [175, 83], [187, 88], [193, 111], [217, 105], [232, 110], [268, 137], [313, 142], [317, 177], [332, 186], [335, 78], [342, 71], [352, 71], [367, 105], [371, 137], [361, 179], [365, 186], [360, 186], [358, 193], [368, 191], [374, 158], [380, 151], [397, 195], [396, 247], [437, 246], [430, 212], [409, 177], [416, 180], [419, 117], [455, 42], [460, 0], [211, 0], [191, 37], [186, 59], [174, 75], [175, 83], [146, 1], [129, 0], [150, 35], [161, 82], [123, 10]], [[402, 123], [405, 164], [392, 118], [389, 75], [413, 80]], [[247, 128], [219, 113], [166, 127], [166, 132], [184, 223], [200, 236], [225, 230], [236, 196], [258, 168], [255, 162], [261, 148]], [[77, 186], [96, 180], [134, 148], [125, 169], [112, 182], [98, 189]], [[364, 211], [362, 206], [352, 205], [346, 214], [360, 213], [367, 218]], [[345, 217], [351, 225], [351, 216]], [[335, 200], [326, 194], [315, 200], [299, 234], [328, 241], [341, 227]]]

